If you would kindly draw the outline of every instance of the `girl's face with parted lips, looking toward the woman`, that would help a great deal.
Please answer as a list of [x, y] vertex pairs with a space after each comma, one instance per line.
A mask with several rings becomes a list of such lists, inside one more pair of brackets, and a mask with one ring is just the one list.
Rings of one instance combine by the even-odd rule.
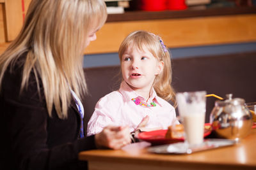
[[124, 81], [131, 89], [148, 97], [156, 75], [163, 70], [163, 61], [159, 62], [147, 48], [140, 51], [131, 44], [122, 55], [121, 69]]

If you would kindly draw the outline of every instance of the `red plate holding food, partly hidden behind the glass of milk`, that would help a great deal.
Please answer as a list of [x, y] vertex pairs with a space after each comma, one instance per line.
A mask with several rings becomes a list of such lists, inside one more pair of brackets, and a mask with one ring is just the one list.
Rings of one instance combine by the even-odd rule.
[[[167, 139], [165, 138], [166, 132], [167, 132], [167, 129], [141, 132], [140, 134], [138, 134], [138, 139], [150, 142], [152, 143], [152, 145], [163, 145], [168, 143], [176, 143], [176, 142], [184, 141], [184, 138]], [[211, 125], [205, 124], [204, 137], [208, 136], [209, 134], [211, 134]]]

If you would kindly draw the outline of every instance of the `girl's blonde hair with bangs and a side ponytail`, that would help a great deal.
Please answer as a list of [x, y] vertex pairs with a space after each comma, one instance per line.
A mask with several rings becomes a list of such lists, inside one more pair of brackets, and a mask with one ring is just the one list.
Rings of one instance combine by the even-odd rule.
[[172, 88], [172, 64], [170, 59], [170, 53], [167, 48], [161, 44], [163, 40], [147, 31], [134, 31], [129, 34], [121, 43], [118, 55], [120, 62], [122, 62], [122, 55], [130, 45], [134, 45], [138, 50], [147, 50], [156, 57], [157, 60], [164, 62], [163, 71], [156, 76], [153, 87], [159, 97], [162, 97], [166, 101], [172, 101], [176, 106], [175, 92]]

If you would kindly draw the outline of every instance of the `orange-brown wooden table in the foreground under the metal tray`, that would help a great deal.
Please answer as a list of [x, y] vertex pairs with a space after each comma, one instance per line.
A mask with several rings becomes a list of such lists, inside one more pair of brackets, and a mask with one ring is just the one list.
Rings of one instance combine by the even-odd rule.
[[147, 150], [91, 150], [79, 153], [89, 169], [256, 169], [256, 129], [233, 146], [190, 155], [162, 155]]

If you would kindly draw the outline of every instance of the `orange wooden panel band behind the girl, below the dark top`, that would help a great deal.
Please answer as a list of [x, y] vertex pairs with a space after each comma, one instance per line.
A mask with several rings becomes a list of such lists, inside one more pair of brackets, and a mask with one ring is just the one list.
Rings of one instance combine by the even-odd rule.
[[141, 29], [159, 34], [170, 48], [244, 43], [256, 41], [256, 14], [108, 22], [86, 53], [117, 52], [127, 34]]

